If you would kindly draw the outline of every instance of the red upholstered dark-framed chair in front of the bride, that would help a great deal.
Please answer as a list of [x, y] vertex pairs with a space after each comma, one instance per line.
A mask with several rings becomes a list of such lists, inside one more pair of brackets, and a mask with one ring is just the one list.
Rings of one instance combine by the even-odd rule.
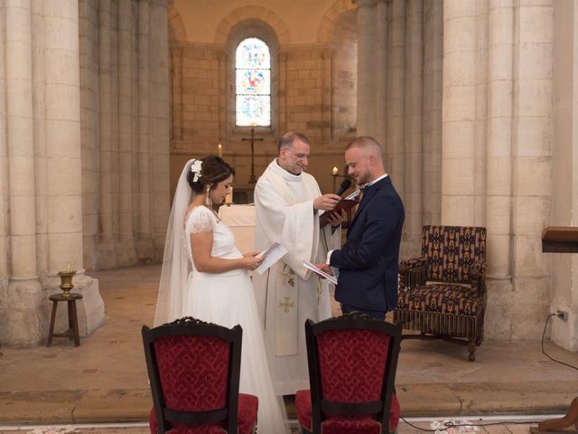
[[256, 432], [256, 396], [238, 393], [240, 325], [228, 329], [192, 317], [150, 329], [144, 355], [154, 407], [151, 434]]

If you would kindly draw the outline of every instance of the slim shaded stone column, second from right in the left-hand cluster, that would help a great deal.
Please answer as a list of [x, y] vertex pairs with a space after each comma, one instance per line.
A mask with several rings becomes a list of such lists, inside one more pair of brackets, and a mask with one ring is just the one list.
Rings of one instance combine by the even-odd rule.
[[138, 3], [138, 258], [153, 259], [153, 237], [151, 225], [151, 138], [149, 110], [149, 5]]

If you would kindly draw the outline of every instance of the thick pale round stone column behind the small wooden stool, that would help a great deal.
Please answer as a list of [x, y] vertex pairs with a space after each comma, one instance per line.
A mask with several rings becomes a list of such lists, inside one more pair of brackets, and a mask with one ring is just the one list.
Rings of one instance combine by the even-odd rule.
[[[48, 211], [47, 296], [60, 292], [59, 270], [77, 270], [74, 292], [79, 304], [79, 329], [89, 335], [104, 321], [98, 281], [83, 274], [82, 172], [80, 150], [79, 5], [75, 0], [44, 4], [46, 103], [46, 168]], [[48, 305], [48, 303], [47, 303]], [[51, 306], [46, 306], [48, 310]], [[65, 317], [61, 312], [61, 327]], [[48, 325], [48, 324], [47, 324]]]

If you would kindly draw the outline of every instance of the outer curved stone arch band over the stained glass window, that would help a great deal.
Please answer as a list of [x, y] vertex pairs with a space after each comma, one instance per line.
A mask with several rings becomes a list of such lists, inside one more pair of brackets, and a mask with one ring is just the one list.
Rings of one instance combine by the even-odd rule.
[[289, 29], [274, 12], [261, 6], [243, 6], [225, 16], [215, 31], [215, 43], [225, 45], [231, 30], [246, 20], [259, 20], [269, 25], [276, 34], [280, 45], [291, 43]]

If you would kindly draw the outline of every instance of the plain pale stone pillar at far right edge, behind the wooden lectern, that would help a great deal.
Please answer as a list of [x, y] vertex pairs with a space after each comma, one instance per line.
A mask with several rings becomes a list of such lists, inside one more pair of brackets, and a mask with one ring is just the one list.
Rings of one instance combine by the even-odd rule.
[[[552, 140], [553, 226], [578, 226], [578, 4], [554, 3], [554, 127]], [[578, 255], [549, 253], [550, 312], [563, 309], [568, 321], [552, 321], [550, 339], [578, 350]]]

